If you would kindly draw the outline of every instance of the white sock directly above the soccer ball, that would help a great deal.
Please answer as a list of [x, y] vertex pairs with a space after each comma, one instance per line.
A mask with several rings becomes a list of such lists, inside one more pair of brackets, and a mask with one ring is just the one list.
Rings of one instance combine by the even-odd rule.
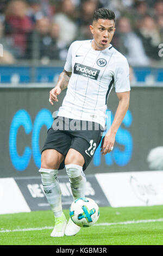
[[85, 197], [86, 178], [83, 167], [77, 164], [67, 164], [65, 167], [70, 180], [73, 199]]

